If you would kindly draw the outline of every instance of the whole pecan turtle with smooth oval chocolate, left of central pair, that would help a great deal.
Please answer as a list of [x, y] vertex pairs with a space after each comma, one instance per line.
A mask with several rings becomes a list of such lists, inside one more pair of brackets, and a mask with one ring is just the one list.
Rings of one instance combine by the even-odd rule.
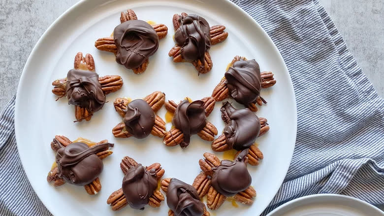
[[115, 110], [123, 117], [112, 133], [117, 138], [135, 137], [143, 139], [152, 134], [164, 137], [165, 122], [156, 114], [165, 102], [165, 94], [156, 91], [144, 99], [130, 100], [117, 98], [113, 105]]

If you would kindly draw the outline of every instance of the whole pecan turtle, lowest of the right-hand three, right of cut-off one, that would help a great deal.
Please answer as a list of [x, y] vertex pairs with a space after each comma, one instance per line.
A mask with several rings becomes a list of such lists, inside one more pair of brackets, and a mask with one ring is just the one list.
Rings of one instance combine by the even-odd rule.
[[247, 155], [248, 149], [245, 149], [231, 161], [220, 160], [216, 155], [206, 152], [204, 159], [199, 160], [202, 172], [192, 185], [197, 188], [200, 198], [207, 195], [209, 209], [219, 209], [228, 197], [233, 197], [241, 204], [253, 204], [256, 191], [251, 186]]

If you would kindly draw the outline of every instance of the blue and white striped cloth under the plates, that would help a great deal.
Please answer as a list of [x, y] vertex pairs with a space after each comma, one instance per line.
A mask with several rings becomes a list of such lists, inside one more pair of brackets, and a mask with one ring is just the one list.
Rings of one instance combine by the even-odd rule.
[[[234, 0], [282, 54], [297, 101], [288, 174], [263, 215], [289, 200], [340, 193], [384, 204], [384, 100], [318, 0]], [[13, 98], [0, 120], [0, 215], [50, 216], [34, 193], [15, 141]]]

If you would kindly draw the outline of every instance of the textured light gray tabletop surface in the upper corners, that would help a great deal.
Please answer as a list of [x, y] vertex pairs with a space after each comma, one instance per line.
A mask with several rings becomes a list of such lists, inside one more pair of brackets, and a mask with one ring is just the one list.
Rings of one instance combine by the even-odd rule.
[[[16, 93], [34, 44], [78, 0], [0, 0], [0, 110]], [[384, 96], [384, 0], [320, 0], [363, 72]]]

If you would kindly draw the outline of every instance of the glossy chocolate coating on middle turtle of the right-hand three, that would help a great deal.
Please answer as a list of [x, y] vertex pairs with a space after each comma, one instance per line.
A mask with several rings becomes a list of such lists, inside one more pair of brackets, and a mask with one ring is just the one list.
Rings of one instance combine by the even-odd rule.
[[226, 144], [236, 150], [243, 150], [253, 145], [260, 133], [260, 121], [257, 115], [248, 108], [235, 109], [228, 102], [220, 110], [229, 118], [223, 130]]

